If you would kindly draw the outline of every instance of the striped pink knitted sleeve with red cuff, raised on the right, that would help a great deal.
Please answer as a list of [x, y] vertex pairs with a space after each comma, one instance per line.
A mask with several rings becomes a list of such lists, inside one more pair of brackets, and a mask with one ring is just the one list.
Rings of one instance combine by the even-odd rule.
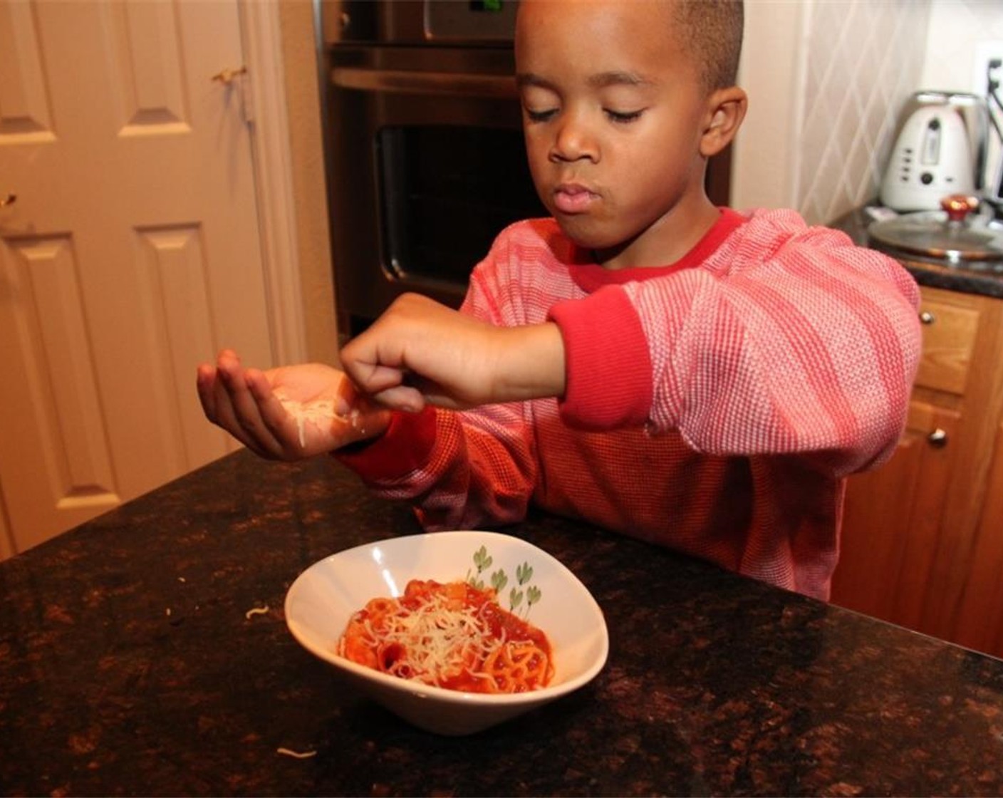
[[[702, 267], [552, 308], [568, 354], [562, 414], [590, 429], [678, 430], [707, 454], [799, 455], [843, 476], [891, 456], [902, 433], [918, 302], [891, 258], [761, 212]], [[629, 389], [605, 389], [621, 378]]]

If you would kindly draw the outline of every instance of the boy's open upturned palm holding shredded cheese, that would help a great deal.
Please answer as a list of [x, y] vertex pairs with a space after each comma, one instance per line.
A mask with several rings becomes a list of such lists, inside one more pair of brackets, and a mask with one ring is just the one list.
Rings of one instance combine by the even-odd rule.
[[[301, 460], [375, 438], [390, 421], [344, 372], [320, 363], [262, 371], [224, 349], [216, 365], [199, 366], [197, 384], [206, 417], [269, 460]], [[300, 408], [312, 418], [299, 422]]]

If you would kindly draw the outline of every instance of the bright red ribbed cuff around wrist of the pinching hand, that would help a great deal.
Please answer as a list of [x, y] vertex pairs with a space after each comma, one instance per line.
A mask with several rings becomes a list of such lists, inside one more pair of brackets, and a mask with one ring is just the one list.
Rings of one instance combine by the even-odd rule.
[[561, 418], [572, 427], [639, 427], [651, 411], [651, 354], [641, 319], [620, 286], [558, 302], [549, 317], [564, 338]]

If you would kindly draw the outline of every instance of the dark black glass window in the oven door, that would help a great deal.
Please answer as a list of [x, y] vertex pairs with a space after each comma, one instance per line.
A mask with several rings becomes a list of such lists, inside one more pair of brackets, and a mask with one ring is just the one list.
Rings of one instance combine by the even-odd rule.
[[383, 127], [376, 150], [383, 259], [397, 279], [465, 286], [504, 227], [547, 215], [520, 130]]

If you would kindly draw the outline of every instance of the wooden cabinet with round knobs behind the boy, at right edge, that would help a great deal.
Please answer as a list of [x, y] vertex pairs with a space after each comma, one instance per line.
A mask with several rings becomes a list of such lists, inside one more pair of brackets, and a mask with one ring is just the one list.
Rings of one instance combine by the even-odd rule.
[[1003, 655], [1003, 300], [923, 288], [895, 456], [847, 489], [832, 602]]

